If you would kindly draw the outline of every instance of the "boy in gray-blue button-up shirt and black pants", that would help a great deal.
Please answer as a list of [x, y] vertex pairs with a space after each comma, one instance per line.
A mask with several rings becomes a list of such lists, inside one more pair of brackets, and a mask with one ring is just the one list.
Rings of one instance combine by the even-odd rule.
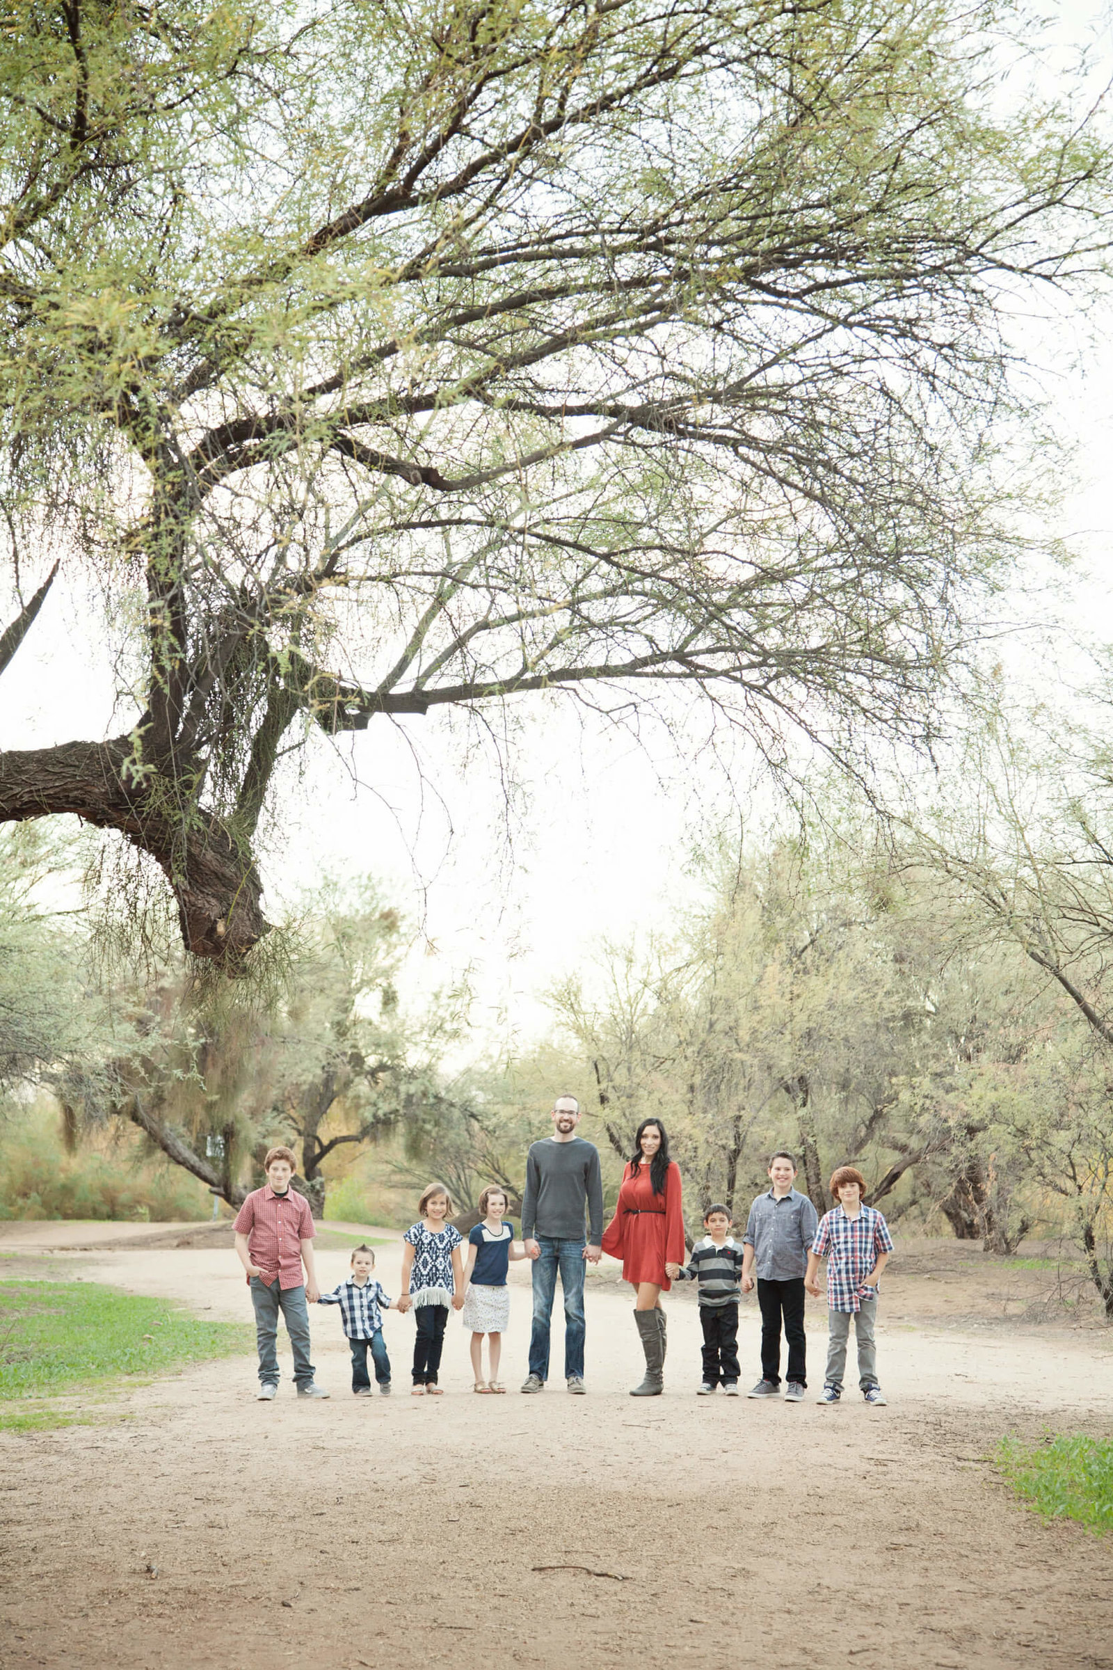
[[758, 1269], [761, 1306], [761, 1379], [751, 1398], [776, 1398], [781, 1389], [781, 1318], [788, 1341], [786, 1403], [804, 1396], [808, 1339], [804, 1336], [804, 1271], [816, 1237], [819, 1214], [806, 1194], [793, 1187], [796, 1161], [774, 1154], [769, 1161], [773, 1187], [749, 1207], [743, 1246], [743, 1293], [753, 1293]]

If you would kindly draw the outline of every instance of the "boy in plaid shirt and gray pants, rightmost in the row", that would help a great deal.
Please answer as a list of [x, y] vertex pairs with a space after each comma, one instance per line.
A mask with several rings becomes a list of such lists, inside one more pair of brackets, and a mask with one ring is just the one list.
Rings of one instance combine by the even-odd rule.
[[828, 1259], [828, 1369], [819, 1403], [843, 1396], [843, 1371], [851, 1316], [858, 1336], [858, 1384], [866, 1403], [886, 1403], [878, 1384], [878, 1283], [889, 1261], [893, 1237], [881, 1212], [863, 1206], [866, 1179], [853, 1166], [839, 1166], [831, 1177], [831, 1194], [839, 1202], [819, 1219], [808, 1254], [808, 1293], [819, 1293], [819, 1259]]

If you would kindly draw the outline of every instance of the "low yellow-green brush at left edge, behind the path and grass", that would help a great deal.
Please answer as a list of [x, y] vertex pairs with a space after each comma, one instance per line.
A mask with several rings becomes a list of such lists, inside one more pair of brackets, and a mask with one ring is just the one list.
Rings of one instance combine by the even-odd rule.
[[207, 1191], [138, 1141], [88, 1142], [68, 1152], [57, 1109], [0, 1119], [0, 1217], [177, 1222], [207, 1217]]

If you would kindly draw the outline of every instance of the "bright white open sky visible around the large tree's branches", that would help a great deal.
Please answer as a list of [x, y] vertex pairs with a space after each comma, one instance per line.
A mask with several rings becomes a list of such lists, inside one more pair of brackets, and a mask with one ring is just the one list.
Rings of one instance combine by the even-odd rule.
[[[1053, 7], [1065, 50], [1101, 10], [1088, 0]], [[1113, 72], [1113, 50], [1106, 65]], [[1091, 324], [1095, 341], [1113, 337], [1108, 316]], [[1071, 581], [1063, 606], [1081, 635], [1113, 641], [1113, 351], [1083, 354], [1075, 367], [1076, 329], [1045, 322], [1025, 341], [1030, 351], [1041, 344], [1060, 429], [1076, 446], [1078, 484], [1055, 533], [1071, 536], [1086, 578]], [[97, 651], [77, 603], [58, 590], [5, 676], [5, 746], [70, 740], [75, 711], [85, 715], [78, 735], [107, 735], [112, 683]], [[544, 1030], [546, 984], [589, 964], [599, 939], [674, 918], [691, 897], [684, 862], [701, 825], [738, 817], [721, 773], [687, 763], [691, 738], [677, 752], [649, 733], [639, 746], [557, 703], [522, 706], [522, 720], [512, 848], [491, 753], [461, 773], [459, 735], [451, 735], [459, 720], [434, 715], [397, 726], [372, 720], [345, 740], [344, 760], [322, 746], [264, 855], [272, 913], [322, 872], [374, 873], [421, 924], [414, 989], [471, 970], [484, 1047]], [[426, 757], [424, 777], [412, 741]], [[768, 805], [766, 792], [761, 798]]]

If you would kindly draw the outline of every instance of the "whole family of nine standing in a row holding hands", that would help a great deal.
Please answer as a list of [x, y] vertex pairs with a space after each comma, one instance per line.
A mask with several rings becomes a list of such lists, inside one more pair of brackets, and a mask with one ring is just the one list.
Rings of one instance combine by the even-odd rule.
[[[741, 1244], [731, 1234], [726, 1206], [704, 1212], [704, 1237], [691, 1254], [684, 1236], [682, 1186], [669, 1157], [667, 1132], [646, 1119], [622, 1174], [614, 1217], [602, 1227], [599, 1151], [576, 1136], [579, 1104], [561, 1096], [552, 1106], [552, 1136], [534, 1142], [526, 1159], [522, 1236], [507, 1221], [509, 1199], [499, 1184], [479, 1196], [481, 1221], [467, 1241], [449, 1222], [452, 1201], [432, 1182], [417, 1202], [419, 1219], [404, 1241], [402, 1296], [390, 1299], [374, 1278], [375, 1254], [352, 1252], [352, 1273], [330, 1293], [320, 1293], [314, 1269], [314, 1221], [309, 1202], [290, 1187], [294, 1154], [270, 1149], [267, 1182], [247, 1196], [235, 1219], [235, 1251], [247, 1273], [259, 1339], [259, 1398], [279, 1388], [277, 1326], [282, 1314], [294, 1351], [294, 1383], [300, 1398], [327, 1398], [309, 1359], [307, 1303], [339, 1304], [352, 1351], [352, 1391], [370, 1396], [370, 1354], [380, 1394], [390, 1393], [390, 1361], [382, 1336], [382, 1313], [414, 1311], [414, 1396], [441, 1396], [437, 1384], [449, 1309], [462, 1311], [471, 1333], [474, 1389], [504, 1393], [499, 1379], [502, 1334], [509, 1321], [511, 1259], [532, 1261], [534, 1314], [529, 1373], [524, 1393], [539, 1393], [549, 1379], [549, 1336], [556, 1281], [564, 1298], [564, 1379], [569, 1393], [584, 1393], [584, 1274], [602, 1252], [622, 1261], [622, 1279], [634, 1289], [634, 1324], [646, 1369], [634, 1398], [664, 1389], [667, 1323], [661, 1294], [674, 1281], [698, 1284], [703, 1324], [701, 1396], [723, 1388], [739, 1394], [738, 1309], [743, 1293], [758, 1289], [761, 1308], [761, 1378], [751, 1398], [781, 1396], [781, 1333], [788, 1344], [784, 1399], [799, 1403], [808, 1386], [804, 1291], [819, 1294], [819, 1261], [828, 1259], [828, 1361], [819, 1403], [838, 1403], [849, 1324], [858, 1341], [858, 1383], [866, 1403], [883, 1404], [876, 1368], [878, 1283], [893, 1251], [881, 1212], [863, 1202], [864, 1177], [841, 1166], [831, 1177], [838, 1206], [819, 1217], [794, 1187], [796, 1162], [778, 1152], [769, 1162], [769, 1189], [759, 1194]], [[467, 1249], [464, 1254], [464, 1247]], [[304, 1269], [304, 1274], [302, 1274]], [[487, 1341], [487, 1374], [482, 1346]]]

